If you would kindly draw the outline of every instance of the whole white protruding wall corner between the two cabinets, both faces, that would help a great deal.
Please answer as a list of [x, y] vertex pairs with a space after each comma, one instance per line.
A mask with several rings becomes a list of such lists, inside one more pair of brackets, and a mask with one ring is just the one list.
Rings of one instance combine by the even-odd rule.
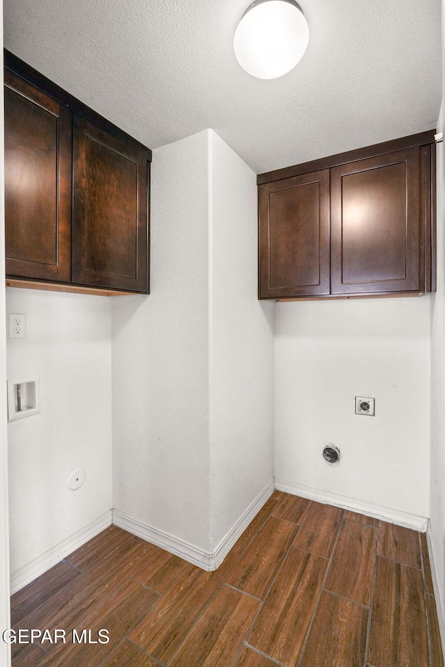
[[256, 197], [213, 131], [156, 149], [152, 294], [113, 301], [117, 520], [203, 565], [273, 480]]

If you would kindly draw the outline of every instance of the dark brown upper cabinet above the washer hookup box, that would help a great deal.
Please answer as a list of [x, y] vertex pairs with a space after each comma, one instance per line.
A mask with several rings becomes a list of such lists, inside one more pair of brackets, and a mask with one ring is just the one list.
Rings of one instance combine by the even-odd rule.
[[10, 286], [149, 292], [151, 151], [5, 52]]

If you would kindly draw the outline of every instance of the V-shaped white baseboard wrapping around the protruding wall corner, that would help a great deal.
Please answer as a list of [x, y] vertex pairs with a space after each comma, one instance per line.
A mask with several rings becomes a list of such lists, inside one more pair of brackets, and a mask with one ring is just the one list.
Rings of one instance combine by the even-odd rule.
[[243, 516], [241, 516], [236, 524], [229, 530], [214, 552], [204, 552], [195, 545], [180, 540], [158, 528], [149, 526], [142, 521], [133, 519], [131, 516], [115, 509], [113, 509], [113, 524], [129, 531], [133, 535], [137, 535], [138, 537], [147, 540], [147, 542], [156, 544], [156, 546], [161, 547], [161, 549], [164, 549], [171, 554], [175, 554], [189, 563], [197, 565], [203, 570], [210, 572], [211, 570], [216, 570], [216, 568], [220, 566], [220, 563], [222, 563], [236, 540], [243, 534], [245, 528], [259, 512], [261, 507], [263, 507], [266, 500], [268, 500], [268, 497], [273, 493], [274, 488], [275, 486], [272, 480], [268, 486], [264, 488], [264, 491], [261, 491], [259, 496], [250, 504], [250, 507], [243, 513]]

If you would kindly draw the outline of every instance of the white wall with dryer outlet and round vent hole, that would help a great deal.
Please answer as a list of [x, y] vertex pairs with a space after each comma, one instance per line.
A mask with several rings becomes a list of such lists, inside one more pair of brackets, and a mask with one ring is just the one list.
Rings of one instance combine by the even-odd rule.
[[[428, 517], [430, 301], [277, 304], [277, 480]], [[355, 415], [357, 395], [375, 417]]]

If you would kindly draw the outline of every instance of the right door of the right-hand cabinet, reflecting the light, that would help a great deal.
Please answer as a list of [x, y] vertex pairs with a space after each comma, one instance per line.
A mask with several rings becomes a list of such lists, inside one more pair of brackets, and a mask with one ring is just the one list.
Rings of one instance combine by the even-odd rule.
[[332, 169], [332, 294], [421, 289], [419, 188], [419, 147]]

